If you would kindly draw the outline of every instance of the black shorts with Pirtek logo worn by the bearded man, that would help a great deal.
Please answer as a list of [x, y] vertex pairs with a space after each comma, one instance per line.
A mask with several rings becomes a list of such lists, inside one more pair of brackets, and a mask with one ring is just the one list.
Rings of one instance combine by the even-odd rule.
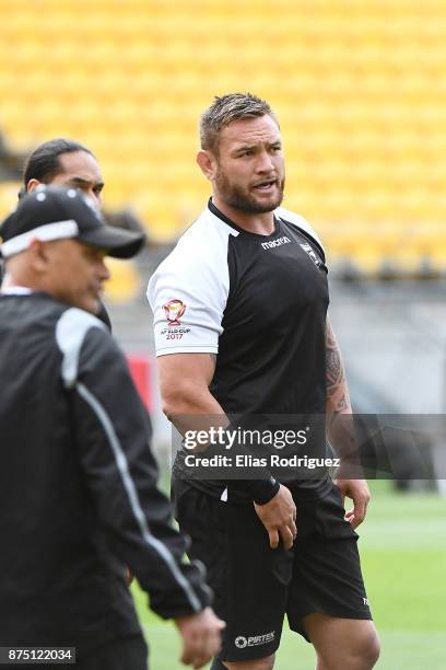
[[270, 548], [254, 506], [224, 503], [177, 478], [173, 499], [179, 527], [192, 540], [189, 555], [207, 566], [212, 607], [226, 622], [222, 660], [273, 654], [285, 613], [306, 639], [307, 614], [372, 619], [357, 534], [334, 485], [321, 499], [297, 503], [297, 540], [289, 551]]

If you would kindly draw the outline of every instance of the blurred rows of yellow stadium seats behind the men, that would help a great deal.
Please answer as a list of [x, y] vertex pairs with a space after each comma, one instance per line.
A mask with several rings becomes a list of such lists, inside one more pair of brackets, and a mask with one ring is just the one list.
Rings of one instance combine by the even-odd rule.
[[281, 119], [284, 205], [333, 262], [446, 269], [444, 0], [0, 0], [0, 25], [11, 146], [89, 145], [106, 203], [132, 204], [152, 236], [208, 196], [200, 111], [250, 90]]

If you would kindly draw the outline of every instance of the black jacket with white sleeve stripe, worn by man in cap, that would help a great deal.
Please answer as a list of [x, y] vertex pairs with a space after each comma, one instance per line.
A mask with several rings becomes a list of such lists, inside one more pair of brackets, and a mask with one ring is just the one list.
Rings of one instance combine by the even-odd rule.
[[138, 632], [124, 564], [161, 616], [206, 607], [104, 325], [44, 293], [0, 297], [0, 646], [82, 652]]

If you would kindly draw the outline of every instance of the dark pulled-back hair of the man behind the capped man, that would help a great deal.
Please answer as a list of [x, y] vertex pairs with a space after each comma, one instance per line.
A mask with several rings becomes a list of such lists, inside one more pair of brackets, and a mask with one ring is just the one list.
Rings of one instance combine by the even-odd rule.
[[48, 184], [62, 171], [59, 157], [62, 153], [74, 153], [75, 151], [85, 151], [93, 155], [90, 149], [83, 145], [64, 138], [49, 140], [37, 147], [25, 162], [23, 186], [19, 197], [26, 193], [26, 187], [31, 180], [38, 180], [44, 184]]

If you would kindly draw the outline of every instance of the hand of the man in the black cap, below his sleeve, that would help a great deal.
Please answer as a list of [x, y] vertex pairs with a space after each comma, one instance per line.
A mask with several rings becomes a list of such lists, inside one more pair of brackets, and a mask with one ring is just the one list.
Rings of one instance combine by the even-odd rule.
[[185, 666], [202, 668], [219, 654], [222, 642], [221, 632], [224, 621], [215, 616], [211, 608], [206, 608], [198, 614], [178, 616], [175, 619], [183, 638], [180, 661]]

